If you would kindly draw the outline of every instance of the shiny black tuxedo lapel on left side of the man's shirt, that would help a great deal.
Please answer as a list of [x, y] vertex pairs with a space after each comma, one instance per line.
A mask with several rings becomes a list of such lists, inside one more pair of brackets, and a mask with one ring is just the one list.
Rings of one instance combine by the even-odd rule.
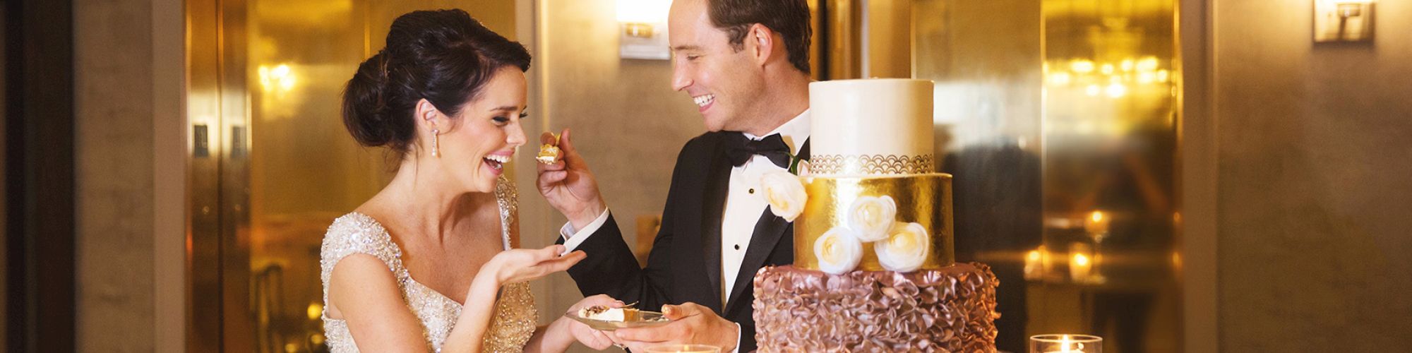
[[[729, 134], [729, 133], [723, 133]], [[724, 136], [722, 136], [724, 137]], [[720, 282], [720, 232], [722, 213], [726, 210], [726, 195], [730, 188], [730, 160], [726, 158], [726, 147], [719, 143], [712, 152], [710, 167], [706, 169], [706, 192], [702, 201], [702, 258], [706, 261], [706, 280], [710, 281], [712, 302], [705, 304], [716, 312], [722, 309]]]

